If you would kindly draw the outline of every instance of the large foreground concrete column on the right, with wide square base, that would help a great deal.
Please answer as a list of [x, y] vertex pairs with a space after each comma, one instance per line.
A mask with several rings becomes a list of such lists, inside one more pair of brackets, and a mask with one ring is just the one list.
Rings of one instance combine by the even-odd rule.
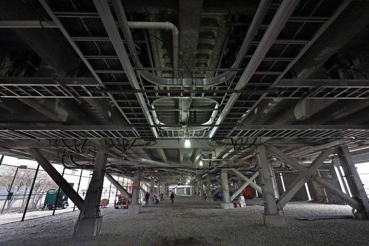
[[285, 218], [277, 209], [265, 146], [256, 148], [256, 157], [264, 199], [264, 213], [261, 219], [266, 226], [285, 226]]

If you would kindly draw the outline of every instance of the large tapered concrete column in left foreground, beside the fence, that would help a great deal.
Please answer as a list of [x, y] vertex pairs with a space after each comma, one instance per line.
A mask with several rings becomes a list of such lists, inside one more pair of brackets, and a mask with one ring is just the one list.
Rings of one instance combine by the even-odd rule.
[[95, 236], [101, 232], [100, 200], [108, 150], [108, 148], [99, 147], [96, 153], [94, 170], [77, 220], [77, 226], [73, 231], [73, 240], [76, 237]]

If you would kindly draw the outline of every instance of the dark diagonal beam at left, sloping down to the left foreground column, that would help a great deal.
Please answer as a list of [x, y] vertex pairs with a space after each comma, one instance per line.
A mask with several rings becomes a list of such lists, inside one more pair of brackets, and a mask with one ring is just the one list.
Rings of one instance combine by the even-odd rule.
[[41, 154], [40, 150], [37, 148], [29, 148], [28, 153], [32, 155], [34, 160], [40, 164], [40, 166], [49, 174], [50, 178], [59, 185], [59, 187], [64, 191], [65, 194], [70, 198], [70, 200], [77, 206], [79, 210], [82, 209], [84, 200], [78, 193], [73, 189], [73, 187], [63, 178], [62, 175], [50, 164], [48, 160]]

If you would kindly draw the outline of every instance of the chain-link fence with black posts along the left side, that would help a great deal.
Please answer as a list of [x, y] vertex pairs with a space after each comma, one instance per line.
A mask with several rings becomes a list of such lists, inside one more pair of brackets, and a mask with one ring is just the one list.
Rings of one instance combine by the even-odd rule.
[[[91, 170], [63, 169], [60, 165], [54, 167], [84, 198]], [[128, 180], [126, 181], [128, 185]], [[104, 180], [102, 198], [108, 199], [109, 204], [113, 204], [116, 199], [116, 188], [108, 180]], [[59, 200], [67, 201], [67, 206], [59, 204]], [[78, 208], [40, 166], [30, 168], [24, 165], [0, 164], [0, 224], [75, 210]]]

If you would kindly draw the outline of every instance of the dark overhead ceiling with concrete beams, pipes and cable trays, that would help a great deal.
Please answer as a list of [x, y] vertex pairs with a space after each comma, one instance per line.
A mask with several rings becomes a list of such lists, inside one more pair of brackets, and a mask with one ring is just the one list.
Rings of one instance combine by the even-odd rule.
[[368, 10], [358, 0], [0, 2], [1, 154], [30, 158], [32, 146], [75, 167], [108, 145], [111, 173], [144, 168], [177, 184], [220, 167], [250, 173], [262, 143], [302, 161], [323, 147], [365, 149]]

